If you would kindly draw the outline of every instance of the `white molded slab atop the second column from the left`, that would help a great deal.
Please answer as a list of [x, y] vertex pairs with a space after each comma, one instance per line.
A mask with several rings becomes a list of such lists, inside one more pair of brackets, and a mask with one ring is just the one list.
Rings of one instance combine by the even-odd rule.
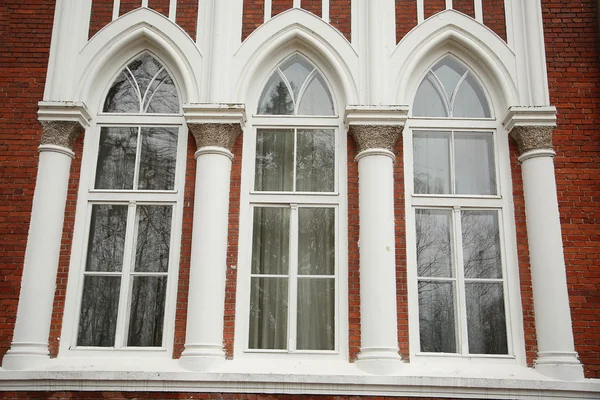
[[239, 123], [243, 128], [246, 123], [246, 109], [244, 104], [184, 104], [183, 115], [188, 124]]

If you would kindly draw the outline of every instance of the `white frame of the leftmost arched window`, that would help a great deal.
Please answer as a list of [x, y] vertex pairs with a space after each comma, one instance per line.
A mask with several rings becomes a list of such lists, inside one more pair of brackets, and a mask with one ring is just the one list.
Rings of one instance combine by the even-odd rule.
[[[121, 71], [132, 60], [141, 56], [147, 50], [136, 53], [114, 72], [106, 85], [104, 92], [99, 96], [96, 109], [102, 110], [104, 99], [112, 83]], [[152, 54], [152, 53], [151, 53]], [[167, 64], [152, 54], [165, 67], [173, 81], [174, 74]], [[177, 88], [177, 83], [175, 83]], [[181, 110], [182, 97], [178, 89], [180, 111], [176, 114], [138, 114], [138, 113], [105, 113], [99, 111], [96, 118], [90, 123], [84, 137], [83, 156], [79, 181], [79, 195], [77, 199], [76, 220], [73, 229], [73, 243], [71, 246], [71, 261], [69, 264], [69, 280], [67, 296], [65, 299], [65, 313], [62, 325], [62, 334], [59, 346], [59, 357], [160, 357], [172, 358], [175, 334], [175, 313], [177, 303], [177, 281], [179, 278], [179, 256], [181, 245], [181, 229], [183, 220], [183, 195], [185, 187], [185, 169], [187, 160], [188, 128]], [[110, 190], [94, 189], [96, 167], [98, 159], [100, 131], [103, 127], [175, 127], [178, 128], [177, 160], [173, 190]], [[138, 141], [138, 147], [140, 143]], [[139, 162], [139, 149], [136, 153], [136, 165]], [[128, 205], [127, 233], [124, 249], [124, 268], [114, 274], [121, 276], [120, 297], [114, 347], [90, 347], [77, 345], [79, 328], [79, 313], [83, 295], [83, 280], [87, 262], [87, 246], [89, 239], [91, 210], [93, 204], [123, 204]], [[133, 261], [127, 260], [134, 257], [132, 246], [135, 242], [134, 229], [135, 205], [172, 205], [171, 237], [169, 247], [169, 267], [166, 273], [167, 289], [165, 294], [165, 310], [163, 318], [163, 340], [161, 347], [125, 347], [127, 336], [126, 323], [129, 320], [131, 300], [132, 276], [128, 272], [133, 267]], [[129, 264], [129, 265], [128, 265]], [[98, 275], [98, 274], [96, 274]], [[100, 273], [99, 275], [109, 275]], [[161, 275], [160, 273], [157, 275]]]

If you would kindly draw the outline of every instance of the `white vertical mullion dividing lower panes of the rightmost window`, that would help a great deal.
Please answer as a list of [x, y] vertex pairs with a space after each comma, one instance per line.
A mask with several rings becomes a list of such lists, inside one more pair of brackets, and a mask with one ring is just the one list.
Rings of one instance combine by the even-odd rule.
[[463, 268], [463, 242], [462, 242], [462, 221], [461, 209], [455, 207], [453, 212], [454, 217], [454, 248], [456, 261], [456, 294], [458, 297], [458, 329], [459, 329], [459, 352], [460, 354], [469, 354], [469, 332], [467, 329], [467, 299], [465, 290], [465, 271]]

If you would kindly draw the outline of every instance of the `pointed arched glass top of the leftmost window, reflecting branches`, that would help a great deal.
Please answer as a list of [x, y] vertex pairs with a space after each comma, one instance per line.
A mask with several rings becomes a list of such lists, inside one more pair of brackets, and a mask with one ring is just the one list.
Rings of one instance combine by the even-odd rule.
[[179, 113], [177, 88], [165, 67], [150, 53], [131, 61], [110, 87], [104, 100], [109, 113]]

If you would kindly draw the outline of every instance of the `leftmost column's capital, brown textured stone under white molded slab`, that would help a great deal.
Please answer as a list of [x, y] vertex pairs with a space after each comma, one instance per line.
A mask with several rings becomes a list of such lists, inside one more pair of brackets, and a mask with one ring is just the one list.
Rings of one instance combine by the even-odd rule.
[[73, 150], [77, 137], [91, 119], [83, 103], [64, 101], [39, 102], [38, 120], [42, 125], [41, 146], [59, 146]]

